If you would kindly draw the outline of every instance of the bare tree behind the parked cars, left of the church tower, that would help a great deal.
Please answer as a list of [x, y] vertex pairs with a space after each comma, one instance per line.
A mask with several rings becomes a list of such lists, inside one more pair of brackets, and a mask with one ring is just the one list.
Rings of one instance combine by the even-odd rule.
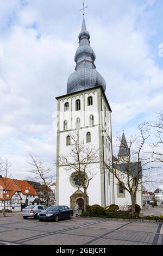
[[53, 181], [53, 175], [51, 174], [52, 168], [49, 166], [47, 167], [42, 161], [37, 161], [31, 154], [29, 155], [30, 162], [28, 163], [33, 168], [32, 170], [29, 170], [29, 172], [35, 175], [34, 180], [41, 182], [44, 191], [44, 200], [49, 206], [51, 199], [51, 189], [49, 188], [49, 186], [51, 186]]

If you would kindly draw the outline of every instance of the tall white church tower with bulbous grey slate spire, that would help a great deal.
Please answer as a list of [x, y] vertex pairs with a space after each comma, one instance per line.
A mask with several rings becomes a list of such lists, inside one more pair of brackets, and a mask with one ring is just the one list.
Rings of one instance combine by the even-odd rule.
[[105, 96], [106, 83], [96, 70], [95, 52], [90, 46], [90, 34], [83, 15], [79, 33], [79, 47], [74, 60], [75, 71], [68, 77], [67, 94], [57, 97], [57, 204], [74, 208], [84, 200], [83, 188], [76, 173], [68, 174], [59, 157], [68, 154], [71, 147], [70, 132], [77, 131], [79, 138], [99, 149], [99, 161], [90, 163], [95, 177], [87, 189], [89, 204], [107, 206], [114, 203], [112, 174], [105, 163], [112, 165], [111, 108]]

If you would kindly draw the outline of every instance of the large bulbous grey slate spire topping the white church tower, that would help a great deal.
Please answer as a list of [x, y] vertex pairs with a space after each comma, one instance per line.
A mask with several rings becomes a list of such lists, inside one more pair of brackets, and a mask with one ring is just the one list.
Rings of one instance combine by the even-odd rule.
[[106, 83], [104, 78], [96, 71], [96, 55], [90, 46], [90, 34], [86, 29], [83, 15], [82, 30], [79, 33], [79, 47], [74, 56], [76, 62], [75, 72], [73, 72], [67, 81], [67, 94], [78, 92], [80, 90], [102, 86], [105, 91]]

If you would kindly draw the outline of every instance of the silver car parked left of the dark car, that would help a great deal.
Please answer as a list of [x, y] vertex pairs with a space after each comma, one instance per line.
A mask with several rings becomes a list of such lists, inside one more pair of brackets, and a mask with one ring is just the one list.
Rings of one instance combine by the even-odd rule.
[[22, 209], [22, 217], [37, 218], [37, 214], [41, 211], [45, 211], [48, 208], [46, 205], [28, 205], [26, 208]]

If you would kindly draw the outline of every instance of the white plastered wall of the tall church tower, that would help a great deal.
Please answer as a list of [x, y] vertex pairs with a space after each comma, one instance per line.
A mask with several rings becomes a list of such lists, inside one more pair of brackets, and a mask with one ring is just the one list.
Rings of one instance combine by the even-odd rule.
[[[92, 96], [93, 105], [87, 106], [87, 98]], [[76, 111], [76, 100], [80, 100], [80, 111]], [[99, 99], [101, 102], [99, 102]], [[69, 103], [68, 111], [64, 111], [65, 103]], [[59, 132], [59, 140], [58, 140], [58, 147], [59, 147], [59, 156], [65, 155], [70, 153], [70, 147], [66, 146], [66, 137], [70, 134], [70, 132], [78, 131], [80, 140], [84, 139], [86, 143], [86, 133], [89, 131], [91, 133], [91, 147], [99, 148], [102, 144], [103, 146], [103, 157], [106, 163], [110, 165], [112, 162], [112, 153], [111, 153], [111, 118], [110, 118], [110, 111], [108, 105], [106, 104], [103, 97], [101, 97], [101, 89], [93, 89], [89, 92], [82, 93], [80, 95], [74, 94], [74, 96], [66, 95], [65, 98], [59, 100], [59, 119], [58, 119], [58, 132]], [[101, 105], [106, 106], [106, 117], [104, 111], [99, 112], [99, 106]], [[90, 126], [90, 115], [94, 117], [94, 124]], [[76, 127], [76, 119], [80, 118], [80, 129]], [[67, 120], [67, 130], [64, 131], [64, 120]], [[104, 127], [105, 126], [105, 127]], [[70, 131], [72, 129], [72, 131]], [[103, 132], [101, 132], [103, 131]], [[108, 147], [106, 147], [106, 139], [108, 143]], [[101, 142], [100, 142], [100, 141]], [[103, 144], [104, 141], [104, 144]], [[88, 145], [90, 143], [86, 143]], [[109, 147], [110, 144], [110, 147]], [[97, 166], [97, 164], [96, 164]], [[96, 176], [90, 182], [88, 193], [89, 193], [89, 203], [90, 204], [100, 204], [101, 205], [101, 193], [105, 187], [105, 201], [106, 204], [110, 204], [113, 202], [113, 188], [112, 182], [108, 182], [108, 176], [105, 174], [105, 186], [101, 187], [101, 170], [100, 164], [98, 163], [98, 168], [94, 167], [91, 164], [90, 168], [94, 168], [97, 171]], [[70, 174], [67, 176], [66, 170], [63, 167], [58, 167], [58, 182], [57, 182], [57, 192], [59, 193], [59, 204], [70, 204], [70, 196], [77, 190], [77, 188], [72, 187], [70, 184]], [[103, 180], [103, 179], [102, 179]], [[82, 190], [82, 188], [80, 189]], [[95, 196], [96, 194], [96, 196]], [[66, 201], [66, 202], [65, 202]]]

